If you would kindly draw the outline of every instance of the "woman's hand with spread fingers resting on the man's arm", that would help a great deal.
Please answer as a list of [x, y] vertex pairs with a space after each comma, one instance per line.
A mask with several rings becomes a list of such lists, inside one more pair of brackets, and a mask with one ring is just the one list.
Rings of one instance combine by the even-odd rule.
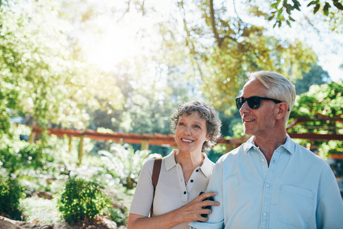
[[[220, 206], [220, 202], [205, 200], [207, 197], [213, 197], [217, 193], [202, 193], [184, 206], [172, 210], [170, 213], [176, 214], [176, 217], [180, 220], [180, 223], [192, 222], [192, 221], [206, 221], [207, 217], [202, 217], [202, 214], [209, 215], [212, 213], [212, 210], [203, 208], [204, 206]], [[205, 200], [205, 201], [204, 201]]]

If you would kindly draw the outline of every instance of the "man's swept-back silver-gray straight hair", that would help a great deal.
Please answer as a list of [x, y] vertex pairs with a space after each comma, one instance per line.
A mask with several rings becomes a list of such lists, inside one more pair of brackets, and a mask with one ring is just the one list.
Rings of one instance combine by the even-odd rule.
[[248, 82], [259, 80], [266, 88], [268, 88], [267, 96], [272, 99], [284, 101], [289, 108], [289, 112], [285, 115], [285, 121], [289, 119], [289, 115], [296, 99], [296, 88], [286, 77], [272, 71], [256, 71], [251, 73]]

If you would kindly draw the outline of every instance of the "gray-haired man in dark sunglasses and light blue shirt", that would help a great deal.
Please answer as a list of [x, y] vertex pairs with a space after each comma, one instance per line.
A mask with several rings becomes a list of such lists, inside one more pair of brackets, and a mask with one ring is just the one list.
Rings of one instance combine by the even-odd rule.
[[217, 161], [207, 192], [221, 204], [190, 228], [343, 228], [333, 171], [286, 133], [295, 97], [283, 75], [250, 75], [236, 104], [252, 137]]

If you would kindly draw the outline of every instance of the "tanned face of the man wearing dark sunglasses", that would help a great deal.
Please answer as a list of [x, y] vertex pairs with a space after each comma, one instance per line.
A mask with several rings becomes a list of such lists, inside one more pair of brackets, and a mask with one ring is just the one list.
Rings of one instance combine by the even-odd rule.
[[[268, 88], [255, 79], [244, 85], [241, 97], [268, 97], [267, 91]], [[239, 110], [244, 123], [244, 133], [257, 137], [267, 136], [275, 125], [275, 107], [276, 104], [273, 101], [262, 100], [259, 108], [252, 109], [246, 101]]]

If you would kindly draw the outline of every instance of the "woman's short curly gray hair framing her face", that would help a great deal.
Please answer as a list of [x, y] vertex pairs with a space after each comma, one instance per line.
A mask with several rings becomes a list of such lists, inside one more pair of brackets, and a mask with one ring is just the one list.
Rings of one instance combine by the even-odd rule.
[[207, 134], [210, 135], [210, 139], [202, 145], [202, 152], [207, 152], [211, 150], [217, 139], [220, 138], [220, 127], [222, 126], [222, 121], [218, 118], [217, 112], [209, 104], [202, 103], [201, 101], [189, 101], [180, 104], [171, 114], [170, 129], [175, 134], [180, 116], [188, 116], [195, 112], [198, 112], [200, 118], [206, 121]]

